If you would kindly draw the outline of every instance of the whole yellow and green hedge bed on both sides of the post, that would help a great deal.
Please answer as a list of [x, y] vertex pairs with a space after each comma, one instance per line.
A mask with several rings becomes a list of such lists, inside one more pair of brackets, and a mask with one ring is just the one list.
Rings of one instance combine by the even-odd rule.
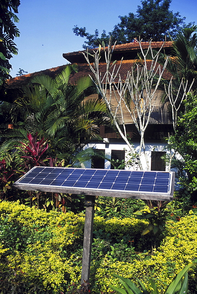
[[[0, 281], [1, 291], [59, 294], [67, 293], [68, 285], [80, 283], [84, 221], [83, 213], [47, 213], [19, 202], [1, 201], [0, 272], [6, 281]], [[111, 276], [114, 273], [132, 281], [137, 276], [148, 290], [152, 278], [162, 293], [175, 275], [197, 258], [197, 216], [192, 211], [172, 224], [153, 255], [142, 253], [143, 248], [141, 253], [135, 251], [146, 226], [147, 220], [95, 215], [92, 293], [109, 293], [112, 283], [119, 287], [118, 279]], [[148, 235], [141, 238], [150, 243]], [[192, 294], [196, 294], [195, 275], [194, 266], [188, 274]]]

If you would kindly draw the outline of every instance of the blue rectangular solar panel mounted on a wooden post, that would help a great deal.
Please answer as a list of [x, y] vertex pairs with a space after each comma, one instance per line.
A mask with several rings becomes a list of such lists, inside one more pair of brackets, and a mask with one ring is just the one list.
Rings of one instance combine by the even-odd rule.
[[24, 190], [172, 200], [174, 173], [36, 166], [13, 185]]

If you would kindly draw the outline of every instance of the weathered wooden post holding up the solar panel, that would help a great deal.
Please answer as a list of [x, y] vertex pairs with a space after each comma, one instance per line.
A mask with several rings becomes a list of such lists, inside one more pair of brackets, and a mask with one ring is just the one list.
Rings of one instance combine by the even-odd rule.
[[92, 252], [92, 232], [94, 221], [94, 205], [95, 196], [85, 196], [85, 226], [83, 238], [83, 258], [82, 258], [82, 271], [81, 271], [81, 284], [84, 280], [89, 283], [90, 280], [90, 261]]

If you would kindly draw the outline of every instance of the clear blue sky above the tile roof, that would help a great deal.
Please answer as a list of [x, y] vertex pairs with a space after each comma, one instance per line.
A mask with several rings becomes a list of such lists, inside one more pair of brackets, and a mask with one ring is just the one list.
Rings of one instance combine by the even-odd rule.
[[[81, 50], [85, 41], [73, 33], [75, 25], [85, 26], [92, 34], [95, 29], [112, 31], [118, 16], [135, 14], [138, 5], [140, 0], [21, 0], [16, 24], [20, 37], [14, 39], [18, 55], [10, 60], [11, 76], [16, 76], [19, 68], [33, 73], [67, 64], [62, 54]], [[186, 23], [197, 24], [196, 0], [172, 0], [170, 10], [186, 16]]]

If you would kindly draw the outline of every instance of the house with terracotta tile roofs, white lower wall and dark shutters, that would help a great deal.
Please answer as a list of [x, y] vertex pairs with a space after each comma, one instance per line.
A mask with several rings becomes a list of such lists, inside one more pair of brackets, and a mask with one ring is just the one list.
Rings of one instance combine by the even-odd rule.
[[[163, 42], [152, 42], [151, 47], [155, 50], [159, 50]], [[148, 42], [142, 42], [142, 48], [147, 49], [149, 46]], [[168, 54], [172, 47], [172, 42], [166, 42], [163, 50]], [[91, 53], [93, 49], [89, 52]], [[122, 66], [120, 69], [120, 74], [122, 77], [127, 76], [127, 72], [131, 69], [131, 66], [135, 63], [135, 58], [139, 52], [139, 44], [137, 42], [116, 45], [113, 52], [113, 60], [116, 60], [116, 64], [118, 65], [121, 62], [123, 57]], [[64, 53], [63, 57], [69, 61], [70, 63], [78, 64], [78, 73], [71, 74], [70, 83], [75, 83], [76, 80], [82, 76], [87, 76], [92, 74], [90, 71], [90, 67], [87, 64], [85, 57], [83, 55], [85, 51], [76, 51], [71, 53]], [[91, 57], [90, 57], [91, 58]], [[93, 61], [93, 60], [92, 60]], [[90, 60], [91, 62], [91, 60]], [[151, 62], [151, 61], [150, 61]], [[18, 88], [19, 86], [23, 86], [28, 83], [31, 78], [38, 74], [49, 74], [51, 77], [55, 76], [59, 72], [63, 70], [66, 65], [58, 66], [53, 69], [47, 69], [40, 72], [27, 74], [23, 76], [19, 76], [16, 78], [12, 78], [8, 81], [8, 89], [11, 93], [12, 89]], [[103, 74], [105, 72], [105, 59], [101, 52], [101, 60], [100, 60], [100, 71]], [[169, 79], [171, 74], [165, 71], [163, 77], [165, 79]], [[161, 106], [160, 104], [160, 94], [161, 91], [157, 90], [155, 94], [155, 105], [154, 111], [151, 114], [149, 125], [145, 132], [145, 145], [147, 150], [147, 156], [149, 158], [149, 166], [151, 170], [165, 171], [167, 169], [164, 160], [161, 158], [166, 152], [164, 148], [166, 146], [166, 142], [163, 141], [163, 138], [169, 137], [173, 133], [173, 126], [171, 117], [168, 114], [167, 106]], [[96, 95], [94, 95], [94, 98]], [[98, 97], [98, 96], [97, 96]], [[114, 99], [114, 100], [113, 100]], [[115, 97], [112, 97], [112, 104], [115, 103]], [[115, 104], [114, 104], [115, 105]], [[131, 119], [130, 116], [127, 115], [126, 111], [124, 112], [124, 121], [126, 124], [126, 130], [129, 138], [131, 139], [135, 148], [139, 148], [139, 133]], [[102, 141], [95, 141], [91, 144], [88, 144], [87, 147], [93, 147], [100, 150], [105, 151], [111, 159], [122, 161], [125, 159], [126, 161], [129, 158], [129, 149], [124, 140], [112, 129], [107, 126], [100, 126], [100, 136], [103, 138]], [[143, 162], [142, 162], [143, 163]], [[99, 159], [94, 162], [95, 168], [113, 168], [107, 160]], [[130, 167], [126, 167], [130, 168]], [[137, 169], [137, 166], [136, 166]], [[144, 169], [145, 162], [144, 162]]]

